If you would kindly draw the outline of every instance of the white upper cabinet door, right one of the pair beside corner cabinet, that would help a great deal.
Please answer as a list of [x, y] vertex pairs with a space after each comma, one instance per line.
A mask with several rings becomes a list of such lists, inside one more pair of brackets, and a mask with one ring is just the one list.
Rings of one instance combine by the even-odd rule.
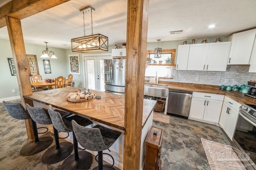
[[209, 43], [207, 71], [226, 71], [231, 42]]

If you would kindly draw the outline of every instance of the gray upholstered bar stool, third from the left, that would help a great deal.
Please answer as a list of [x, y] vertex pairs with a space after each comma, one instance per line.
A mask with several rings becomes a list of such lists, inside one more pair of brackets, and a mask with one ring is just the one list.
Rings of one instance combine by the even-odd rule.
[[[74, 115], [63, 118], [60, 113], [54, 111], [51, 105], [48, 106], [48, 112], [52, 119], [52, 124], [60, 132], [73, 132], [72, 120], [77, 121], [82, 126], [88, 126], [92, 124], [92, 121], [84, 117]], [[89, 169], [92, 165], [92, 154], [86, 151], [78, 152], [78, 143], [76, 136], [73, 132], [74, 154], [70, 155], [60, 166], [60, 169]], [[83, 149], [84, 150], [84, 149]]]

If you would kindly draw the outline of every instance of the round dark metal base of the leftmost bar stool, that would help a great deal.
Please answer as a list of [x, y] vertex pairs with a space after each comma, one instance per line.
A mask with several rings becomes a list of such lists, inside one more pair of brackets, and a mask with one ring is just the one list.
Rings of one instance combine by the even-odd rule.
[[20, 155], [22, 156], [31, 156], [37, 154], [44, 149], [48, 148], [53, 142], [52, 137], [40, 137], [38, 143], [35, 143], [35, 140], [27, 143], [20, 150]]

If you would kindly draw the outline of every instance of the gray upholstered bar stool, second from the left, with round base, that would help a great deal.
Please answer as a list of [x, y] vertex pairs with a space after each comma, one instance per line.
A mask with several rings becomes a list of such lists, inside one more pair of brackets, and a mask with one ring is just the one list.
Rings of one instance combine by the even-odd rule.
[[[36, 123], [42, 125], [50, 125], [52, 124], [50, 115], [47, 109], [43, 107], [31, 107], [26, 104], [26, 109], [30, 114], [31, 119], [33, 119]], [[62, 111], [61, 117], [67, 117], [71, 115], [71, 113]], [[54, 139], [55, 145], [50, 147], [46, 152], [44, 152], [42, 156], [42, 162], [44, 164], [55, 164], [62, 160], [64, 160], [73, 150], [73, 145], [70, 142], [59, 142], [59, 135], [58, 131], [53, 128], [54, 130]]]

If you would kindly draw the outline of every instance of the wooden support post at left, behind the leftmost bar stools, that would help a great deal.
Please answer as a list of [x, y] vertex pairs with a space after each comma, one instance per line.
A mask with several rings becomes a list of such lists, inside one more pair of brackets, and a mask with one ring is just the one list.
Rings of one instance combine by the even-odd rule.
[[[29, 80], [29, 66], [26, 59], [26, 51], [23, 40], [22, 28], [20, 20], [6, 16], [6, 25], [12, 47], [12, 56], [17, 73], [18, 86], [20, 90], [20, 98], [22, 105], [25, 107], [24, 95], [32, 94], [31, 84]], [[28, 101], [30, 102], [30, 101]], [[28, 139], [34, 139], [32, 127], [27, 120], [26, 127]]]

